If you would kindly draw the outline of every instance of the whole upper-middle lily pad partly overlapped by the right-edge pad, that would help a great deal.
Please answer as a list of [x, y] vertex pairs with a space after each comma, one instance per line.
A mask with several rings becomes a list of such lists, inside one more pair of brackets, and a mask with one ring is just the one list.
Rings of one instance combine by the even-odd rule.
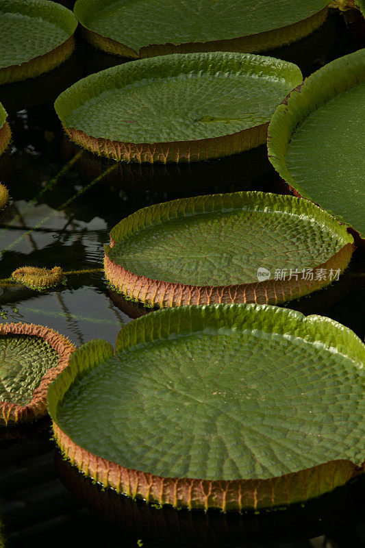
[[302, 80], [288, 62], [244, 53], [164, 55], [114, 66], [62, 92], [72, 140], [116, 160], [190, 162], [252, 149]]

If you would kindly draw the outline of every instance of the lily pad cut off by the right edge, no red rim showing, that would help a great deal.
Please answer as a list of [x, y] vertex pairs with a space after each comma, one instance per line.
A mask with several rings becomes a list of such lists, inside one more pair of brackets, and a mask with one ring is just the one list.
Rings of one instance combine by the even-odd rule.
[[365, 237], [365, 49], [327, 64], [279, 105], [268, 154], [297, 195]]

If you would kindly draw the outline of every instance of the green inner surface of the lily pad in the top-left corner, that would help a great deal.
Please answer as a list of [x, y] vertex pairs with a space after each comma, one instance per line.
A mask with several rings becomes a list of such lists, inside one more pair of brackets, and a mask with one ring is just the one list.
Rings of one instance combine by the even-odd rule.
[[52, 51], [75, 32], [70, 10], [48, 0], [0, 0], [0, 69]]

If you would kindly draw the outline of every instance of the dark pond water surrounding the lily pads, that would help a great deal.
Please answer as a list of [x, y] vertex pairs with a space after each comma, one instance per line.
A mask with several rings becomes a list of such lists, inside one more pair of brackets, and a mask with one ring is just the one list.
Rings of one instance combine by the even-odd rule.
[[[305, 75], [364, 47], [364, 27], [332, 14], [322, 29], [273, 52], [298, 62]], [[118, 62], [79, 39], [77, 54], [47, 77], [3, 86], [14, 142], [0, 162], [13, 199], [0, 225], [0, 318], [48, 325], [81, 345], [114, 344], [136, 309], [114, 306], [103, 278], [103, 244], [124, 216], [152, 203], [233, 190], [278, 191], [264, 147], [227, 160], [191, 166], [118, 166], [75, 149], [62, 133], [53, 99], [79, 77]], [[120, 61], [119, 61], [120, 62]], [[12, 284], [24, 265], [62, 266], [65, 286], [38, 293]], [[288, 303], [323, 314], [365, 337], [365, 259], [357, 251], [330, 288]], [[242, 516], [157, 510], [103, 493], [60, 458], [49, 423], [0, 432], [0, 516], [9, 547], [365, 546], [364, 481], [302, 508]], [[1, 540], [0, 540], [1, 546]]]

